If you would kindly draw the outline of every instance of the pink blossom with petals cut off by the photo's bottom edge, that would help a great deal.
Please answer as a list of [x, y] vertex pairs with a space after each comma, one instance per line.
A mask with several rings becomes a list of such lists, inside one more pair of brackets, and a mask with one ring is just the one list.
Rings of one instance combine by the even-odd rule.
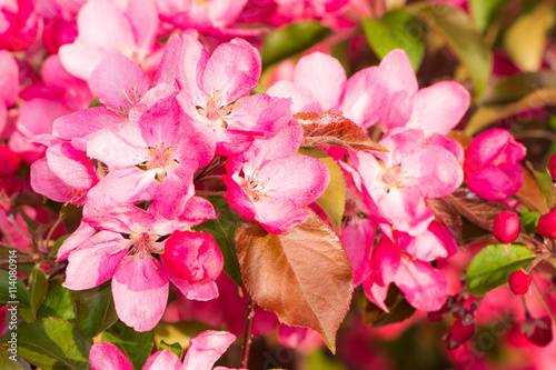
[[[215, 362], [236, 340], [236, 336], [227, 331], [207, 330], [189, 340], [183, 362], [167, 349], [152, 353], [143, 366], [143, 370], [210, 370]], [[131, 362], [112, 343], [97, 342], [89, 353], [92, 370], [132, 370]], [[228, 368], [217, 367], [216, 370]]]

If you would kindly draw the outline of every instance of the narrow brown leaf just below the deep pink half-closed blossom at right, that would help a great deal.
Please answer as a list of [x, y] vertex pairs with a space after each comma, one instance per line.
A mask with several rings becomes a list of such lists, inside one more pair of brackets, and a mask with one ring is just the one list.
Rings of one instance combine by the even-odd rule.
[[488, 231], [493, 230], [493, 221], [498, 213], [514, 211], [505, 202], [483, 199], [467, 188], [457, 189], [453, 194], [444, 198], [463, 217]]

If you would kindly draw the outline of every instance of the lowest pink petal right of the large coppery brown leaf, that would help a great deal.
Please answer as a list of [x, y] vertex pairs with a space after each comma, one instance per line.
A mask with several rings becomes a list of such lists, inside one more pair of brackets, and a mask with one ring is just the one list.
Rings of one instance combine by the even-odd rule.
[[446, 277], [428, 262], [404, 260], [394, 282], [418, 310], [437, 311], [446, 302]]

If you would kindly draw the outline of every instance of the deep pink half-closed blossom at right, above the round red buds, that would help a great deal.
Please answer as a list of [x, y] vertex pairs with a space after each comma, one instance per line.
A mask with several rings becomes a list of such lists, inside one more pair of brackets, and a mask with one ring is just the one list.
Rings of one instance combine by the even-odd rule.
[[523, 184], [526, 149], [503, 129], [479, 133], [465, 151], [465, 183], [488, 200], [505, 200]]

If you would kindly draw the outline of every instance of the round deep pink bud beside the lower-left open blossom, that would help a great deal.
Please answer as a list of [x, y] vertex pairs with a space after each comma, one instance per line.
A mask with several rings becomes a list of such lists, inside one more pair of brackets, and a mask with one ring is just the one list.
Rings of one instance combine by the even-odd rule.
[[206, 232], [175, 231], [161, 259], [172, 276], [191, 283], [207, 278], [214, 281], [224, 268], [222, 252]]

